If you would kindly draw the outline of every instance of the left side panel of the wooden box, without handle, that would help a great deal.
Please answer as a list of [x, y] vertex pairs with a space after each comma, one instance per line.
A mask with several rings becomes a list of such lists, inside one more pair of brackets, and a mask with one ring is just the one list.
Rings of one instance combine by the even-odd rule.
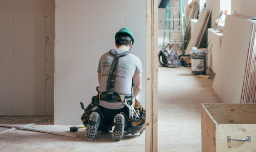
[[218, 129], [216, 121], [207, 111], [204, 104], [201, 105], [201, 131], [202, 152], [218, 152]]

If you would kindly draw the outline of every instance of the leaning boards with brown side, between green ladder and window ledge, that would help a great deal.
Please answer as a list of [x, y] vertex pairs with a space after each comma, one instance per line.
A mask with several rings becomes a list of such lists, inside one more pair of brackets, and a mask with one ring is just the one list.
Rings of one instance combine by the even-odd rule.
[[190, 55], [192, 51], [192, 47], [199, 47], [199, 44], [202, 40], [204, 31], [207, 27], [209, 18], [211, 15], [211, 11], [208, 10], [202, 10], [200, 13], [200, 16], [198, 17], [198, 21], [196, 23], [196, 27], [194, 29], [193, 35], [191, 36], [191, 39], [189, 40], [188, 47], [186, 49], [185, 55]]

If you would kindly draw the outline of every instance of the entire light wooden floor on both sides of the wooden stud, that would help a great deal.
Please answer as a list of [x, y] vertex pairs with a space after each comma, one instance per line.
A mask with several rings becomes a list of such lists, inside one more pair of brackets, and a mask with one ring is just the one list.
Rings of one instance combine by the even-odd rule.
[[[191, 75], [191, 68], [158, 69], [158, 151], [201, 152], [200, 103], [220, 103], [213, 92], [213, 79], [200, 79]], [[1, 124], [22, 125], [49, 119], [33, 125], [58, 132], [69, 133], [66, 125], [52, 125], [53, 117], [0, 117]], [[79, 126], [79, 124], [77, 124]], [[82, 125], [80, 125], [82, 126]], [[0, 131], [7, 128], [0, 127]], [[0, 133], [1, 152], [143, 152], [145, 133], [126, 135], [122, 141], [113, 141], [111, 132], [99, 133], [99, 139], [90, 142], [84, 131], [79, 137], [65, 137], [33, 131], [14, 130]]]

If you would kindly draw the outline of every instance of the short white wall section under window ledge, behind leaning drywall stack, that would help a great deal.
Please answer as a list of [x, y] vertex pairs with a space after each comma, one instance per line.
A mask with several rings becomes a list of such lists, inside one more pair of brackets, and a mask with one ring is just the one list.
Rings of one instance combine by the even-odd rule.
[[[221, 39], [223, 33], [212, 28], [208, 28], [208, 50], [207, 55], [208, 67], [216, 74], [219, 61], [219, 51], [221, 49]], [[211, 50], [210, 50], [211, 49]]]

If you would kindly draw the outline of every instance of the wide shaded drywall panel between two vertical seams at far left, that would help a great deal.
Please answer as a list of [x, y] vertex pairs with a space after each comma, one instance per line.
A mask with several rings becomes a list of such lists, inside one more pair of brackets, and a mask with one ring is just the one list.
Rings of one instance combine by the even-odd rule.
[[45, 113], [45, 0], [14, 1], [14, 113]]

